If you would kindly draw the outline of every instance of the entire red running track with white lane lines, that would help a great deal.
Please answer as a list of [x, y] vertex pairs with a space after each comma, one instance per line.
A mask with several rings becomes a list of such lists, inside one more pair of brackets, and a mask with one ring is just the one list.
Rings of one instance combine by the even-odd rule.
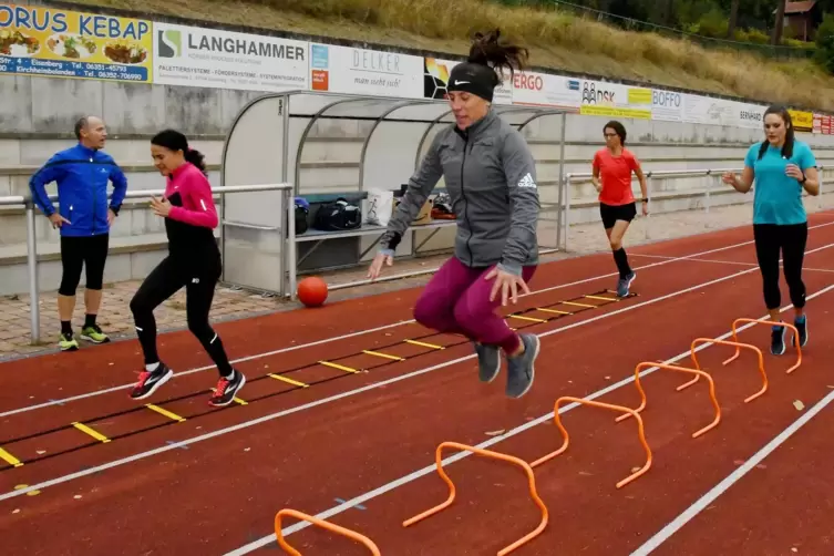
[[[834, 226], [827, 226], [831, 222], [831, 215], [811, 218], [812, 226], [821, 227], [812, 229], [809, 240], [809, 251], [813, 253], [807, 255], [806, 267], [816, 269], [805, 275], [809, 295], [834, 282], [834, 274], [827, 271], [834, 271]], [[247, 545], [249, 548], [234, 554], [279, 550], [274, 535], [265, 543], [257, 540], [269, 537], [280, 508], [318, 514], [341, 505], [342, 511], [330, 519], [370, 536], [382, 554], [495, 554], [538, 523], [524, 476], [505, 464], [480, 457], [461, 460], [447, 467], [457, 486], [455, 504], [403, 528], [404, 519], [440, 503], [446, 494], [431, 467], [419, 477], [414, 472], [431, 466], [434, 449], [441, 442], [495, 441], [502, 431], [513, 431], [525, 423], [528, 430], [501, 440], [492, 449], [533, 461], [562, 443], [553, 424], [533, 425], [536, 420], [552, 423], [539, 418], [553, 411], [556, 398], [581, 398], [610, 388], [632, 377], [634, 367], [640, 361], [675, 358], [689, 349], [693, 338], [715, 338], [728, 332], [738, 317], [761, 317], [758, 269], [734, 264], [754, 261], [750, 244], [697, 257], [725, 264], [637, 256], [681, 257], [751, 239], [751, 230], [745, 227], [630, 249], [635, 266], [656, 265], [638, 270], [634, 288], [638, 297], [547, 323], [527, 322], [531, 331], [547, 336], [542, 342], [536, 383], [518, 401], [504, 397], [503, 375], [494, 384], [478, 383], [472, 358], [449, 363], [471, 356], [465, 344], [415, 358], [412, 356], [420, 350], [400, 346], [387, 348], [385, 352], [406, 357], [405, 361], [370, 372], [342, 377], [343, 371], [318, 365], [286, 374], [305, 382], [333, 378], [311, 388], [294, 389], [271, 379], [253, 380], [241, 391], [241, 398], [249, 403], [225, 410], [207, 410], [205, 403], [207, 389], [216, 379], [214, 371], [193, 372], [172, 381], [171, 388], [151, 402], [181, 415], [205, 414], [167, 424], [167, 418], [150, 410], [123, 413], [96, 422], [95, 429], [115, 437], [141, 428], [161, 426], [109, 443], [93, 441], [87, 447], [44, 457], [92, 441], [66, 428], [69, 423], [90, 422], [136, 406], [127, 400], [127, 390], [116, 387], [134, 380], [133, 371], [141, 362], [137, 344], [121, 342], [0, 365], [0, 384], [4, 387], [0, 389], [0, 446], [27, 461], [42, 457], [0, 471], [3, 548], [11, 554], [85, 555], [227, 554]], [[532, 287], [542, 290], [609, 274], [611, 268], [608, 256], [549, 264], [537, 274]], [[611, 277], [597, 278], [552, 289], [525, 297], [519, 305], [535, 308], [555, 303], [611, 287]], [[409, 323], [256, 357], [294, 343], [409, 320], [418, 295], [419, 290], [406, 290], [217, 328], [234, 357], [251, 358], [239, 367], [254, 379], [428, 333]], [[786, 300], [783, 291], [783, 305]], [[614, 414], [593, 408], [565, 413], [563, 423], [572, 439], [568, 451], [536, 470], [538, 492], [549, 509], [548, 527], [514, 554], [630, 554], [720, 483], [737, 469], [737, 462], [751, 457], [790, 425], [802, 413], [793, 405], [795, 399], [811, 408], [830, 393], [831, 381], [826, 380], [823, 362], [834, 354], [834, 346], [826, 346], [821, 339], [834, 331], [834, 323], [825, 315], [834, 310], [834, 290], [813, 298], [809, 310], [811, 344], [803, 353], [802, 367], [791, 375], [785, 375], [784, 370], [794, 361], [793, 351], [782, 358], [770, 356], [765, 327], [741, 332], [741, 341], [764, 351], [770, 380], [769, 391], [751, 403], [743, 403], [743, 399], [761, 387], [761, 379], [750, 354], [742, 353], [724, 368], [721, 361], [732, 353], [730, 348], [711, 347], [699, 352], [702, 368], [714, 378], [722, 409], [719, 426], [699, 439], [693, 440], [690, 434], [712, 419], [706, 387], [696, 384], [675, 392], [683, 377], [663, 372], [646, 377], [642, 384], [648, 408], [642, 415], [653, 464], [646, 475], [621, 490], [615, 488], [615, 483], [645, 462], [635, 423], [617, 424]], [[790, 313], [786, 316], [790, 318]], [[346, 322], [354, 328], [349, 329]], [[513, 323], [522, 326], [521, 321]], [[163, 338], [162, 356], [176, 369], [208, 364], [187, 333]], [[457, 340], [435, 336], [425, 341], [449, 344]], [[354, 368], [380, 362], [367, 354], [346, 361], [342, 363]], [[687, 359], [678, 362], [688, 363]], [[381, 384], [383, 381], [387, 383]], [[362, 387], [367, 390], [356, 392]], [[31, 409], [49, 400], [106, 388], [116, 390]], [[164, 403], [195, 393], [196, 397]], [[599, 400], [630, 406], [639, 403], [634, 383], [611, 389]], [[22, 411], [25, 408], [30, 409]], [[791, 442], [803, 442], [812, 424]], [[230, 426], [236, 429], [229, 430]], [[59, 431], [17, 444], [4, 443], [48, 429]], [[792, 465], [792, 456], [783, 449], [773, 457], [786, 457], [784, 465]], [[813, 483], [813, 477], [824, 477], [820, 475], [823, 465], [818, 457], [816, 464], [804, 462], [805, 480], [811, 481], [807, 488], [818, 494], [826, 491]], [[745, 484], [761, 481], [761, 471], [745, 475], [734, 488], [740, 491]], [[16, 491], [18, 485], [37, 490]], [[761, 488], [759, 483], [748, 486], [750, 493]], [[361, 505], [337, 500], [374, 491], [379, 494], [364, 496]], [[743, 502], [731, 498], [733, 494], [730, 490], [717, 498], [718, 504], [735, 500], [735, 506], [729, 507], [722, 518], [709, 521], [715, 519], [712, 509], [699, 514], [658, 553], [738, 553], [738, 543], [751, 542], [744, 527], [763, 527], [764, 504], [762, 498], [760, 505], [741, 507]], [[784, 531], [799, 527], [794, 523], [795, 506], [786, 502], [796, 500], [795, 495], [801, 493], [787, 487], [781, 504], [784, 511], [779, 523]], [[742, 525], [728, 525], [733, 519]], [[727, 528], [709, 544], [704, 537], [712, 535], [715, 523]], [[285, 521], [285, 527], [292, 524]], [[312, 527], [289, 534], [287, 539], [303, 554], [370, 554]], [[823, 540], [813, 546], [826, 546], [820, 543]], [[262, 547], [257, 549], [257, 545]], [[774, 546], [762, 545], [754, 553], [765, 554], [768, 549], [775, 550]]]

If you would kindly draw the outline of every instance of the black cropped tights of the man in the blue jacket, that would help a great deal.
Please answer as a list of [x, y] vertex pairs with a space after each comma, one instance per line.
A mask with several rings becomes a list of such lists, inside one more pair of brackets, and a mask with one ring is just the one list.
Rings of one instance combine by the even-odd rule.
[[102, 289], [104, 262], [107, 260], [110, 235], [61, 236], [61, 287], [62, 296], [75, 296], [81, 281], [81, 268], [86, 269], [86, 289]]

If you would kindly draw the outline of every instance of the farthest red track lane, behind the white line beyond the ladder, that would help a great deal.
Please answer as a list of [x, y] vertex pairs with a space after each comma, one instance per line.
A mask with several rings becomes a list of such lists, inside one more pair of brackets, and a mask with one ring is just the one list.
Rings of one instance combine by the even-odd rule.
[[[809, 220], [811, 225], [811, 235], [816, 235], [816, 230], [828, 229], [832, 224], [826, 218], [827, 214], [811, 215]], [[691, 248], [686, 250], [680, 257], [696, 257], [712, 255], [714, 253], [728, 253], [737, 249], [750, 249], [752, 245], [751, 231], [749, 227], [731, 228], [719, 230], [702, 236], [697, 236], [698, 240], [682, 238], [667, 241], [638, 246], [630, 251], [638, 253], [658, 253], [660, 250], [675, 250], [680, 253], [681, 245]], [[730, 243], [728, 244], [728, 238]], [[673, 262], [673, 260], [657, 260], [642, 265], [635, 265], [638, 269], [658, 268]], [[596, 276], [588, 278], [590, 268], [597, 268]], [[565, 287], [565, 285], [590, 285], [597, 280], [605, 281], [603, 287], [608, 287], [606, 280], [615, 277], [615, 274], [607, 272], [611, 269], [611, 260], [607, 254], [589, 255], [574, 259], [543, 265], [533, 279], [533, 289], [544, 290], [534, 292], [534, 296], [549, 294]], [[547, 277], [553, 274], [555, 277], [552, 281]], [[547, 281], [546, 281], [547, 280]], [[600, 281], [600, 284], [601, 284]], [[550, 286], [545, 284], [553, 284]], [[543, 284], [539, 288], [537, 285]], [[395, 328], [399, 323], [412, 321], [410, 308], [416, 299], [421, 288], [390, 292], [373, 298], [358, 298], [339, 303], [330, 303], [316, 311], [296, 310], [280, 312], [269, 316], [260, 316], [254, 319], [243, 321], [223, 322], [217, 325], [217, 330], [225, 338], [225, 343], [229, 346], [229, 352], [234, 362], [240, 360], [257, 360], [262, 357], [278, 354], [282, 350], [296, 350], [299, 344], [310, 342], [309, 338], [319, 338], [312, 340], [315, 347], [320, 347], [328, 340], [338, 340], [339, 337], [349, 334], [361, 334], [368, 329], [356, 327], [349, 331], [340, 331], [333, 323], [342, 325], [344, 319], [339, 315], [353, 311], [363, 316], [363, 322], [371, 322], [370, 329], [385, 327]], [[369, 305], [368, 299], [373, 299], [373, 307]], [[382, 303], [382, 305], [380, 305]], [[369, 310], [373, 309], [373, 310]], [[388, 316], [398, 316], [397, 322], [387, 321]], [[298, 318], [297, 318], [298, 317]], [[369, 317], [369, 318], [365, 318]], [[370, 320], [369, 320], [370, 319]], [[352, 322], [352, 320], [348, 320]], [[399, 323], [398, 323], [399, 322]], [[254, 326], [258, 329], [258, 334], [244, 333], [241, 329]], [[303, 330], [303, 332], [301, 332]], [[343, 330], [343, 329], [341, 329]], [[305, 340], [303, 338], [307, 338]], [[204, 350], [198, 346], [196, 340], [187, 331], [177, 331], [161, 334], [161, 356], [177, 370], [188, 369], [185, 372], [178, 372], [175, 378], [178, 380], [184, 375], [195, 372], [204, 373], [214, 369]], [[241, 346], [238, 351], [238, 346]], [[131, 351], [132, 350], [132, 351]], [[93, 360], [86, 358], [94, 358]], [[198, 361], [199, 367], [194, 368], [194, 361]], [[78, 370], [79, 359], [84, 361], [87, 367], [83, 379], [73, 381], [68, 384], [63, 379], [65, 373]], [[76, 353], [55, 353], [29, 358], [27, 360], [11, 361], [0, 363], [0, 418], [7, 416], [14, 412], [25, 411], [28, 409], [41, 409], [41, 405], [50, 406], [59, 402], [68, 403], [73, 397], [94, 397], [111, 393], [111, 391], [126, 390], [130, 383], [124, 383], [122, 378], [125, 369], [133, 369], [132, 374], [137, 374], [140, 369], [136, 359], [141, 360], [138, 343], [135, 340], [124, 340], [105, 346], [97, 346], [95, 350], [82, 350]], [[191, 368], [189, 368], [191, 367]], [[74, 372], [74, 374], [79, 374]], [[90, 392], [89, 382], [100, 387], [97, 391]], [[120, 381], [122, 381], [120, 383]], [[32, 383], [38, 384], [39, 389], [47, 389], [47, 392], [30, 392], [27, 398], [30, 402], [24, 405], [19, 404], [21, 392], [29, 392]], [[16, 394], [4, 395], [4, 392], [16, 392]], [[53, 400], [53, 401], [50, 401]]]

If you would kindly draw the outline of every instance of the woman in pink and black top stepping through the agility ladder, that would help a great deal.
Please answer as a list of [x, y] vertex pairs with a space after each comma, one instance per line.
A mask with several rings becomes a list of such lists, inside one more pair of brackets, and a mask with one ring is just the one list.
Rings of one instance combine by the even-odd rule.
[[208, 323], [215, 286], [223, 264], [214, 233], [217, 210], [206, 177], [203, 155], [188, 147], [185, 135], [174, 130], [151, 140], [151, 155], [159, 173], [167, 176], [165, 196], [151, 199], [157, 216], [165, 218], [168, 256], [148, 275], [131, 300], [136, 333], [145, 356], [145, 370], [131, 393], [143, 400], [174, 375], [156, 353], [154, 309], [185, 287], [188, 330], [197, 337], [220, 373], [212, 405], [231, 403], [246, 378], [229, 364], [223, 342]]

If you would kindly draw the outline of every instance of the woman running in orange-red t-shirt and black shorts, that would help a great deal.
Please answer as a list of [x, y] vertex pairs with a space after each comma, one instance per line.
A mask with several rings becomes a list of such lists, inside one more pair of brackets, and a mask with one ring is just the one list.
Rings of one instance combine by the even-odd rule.
[[[594, 187], [599, 192], [599, 214], [603, 226], [611, 245], [614, 261], [619, 270], [617, 295], [628, 296], [631, 282], [637, 272], [628, 265], [626, 249], [622, 248], [622, 236], [637, 216], [635, 196], [631, 193], [631, 173], [640, 181], [642, 193], [642, 214], [649, 214], [649, 198], [646, 176], [640, 169], [640, 162], [635, 154], [625, 147], [626, 128], [621, 123], [612, 121], [603, 127], [605, 148], [594, 155]], [[600, 184], [601, 177], [601, 184]]]

